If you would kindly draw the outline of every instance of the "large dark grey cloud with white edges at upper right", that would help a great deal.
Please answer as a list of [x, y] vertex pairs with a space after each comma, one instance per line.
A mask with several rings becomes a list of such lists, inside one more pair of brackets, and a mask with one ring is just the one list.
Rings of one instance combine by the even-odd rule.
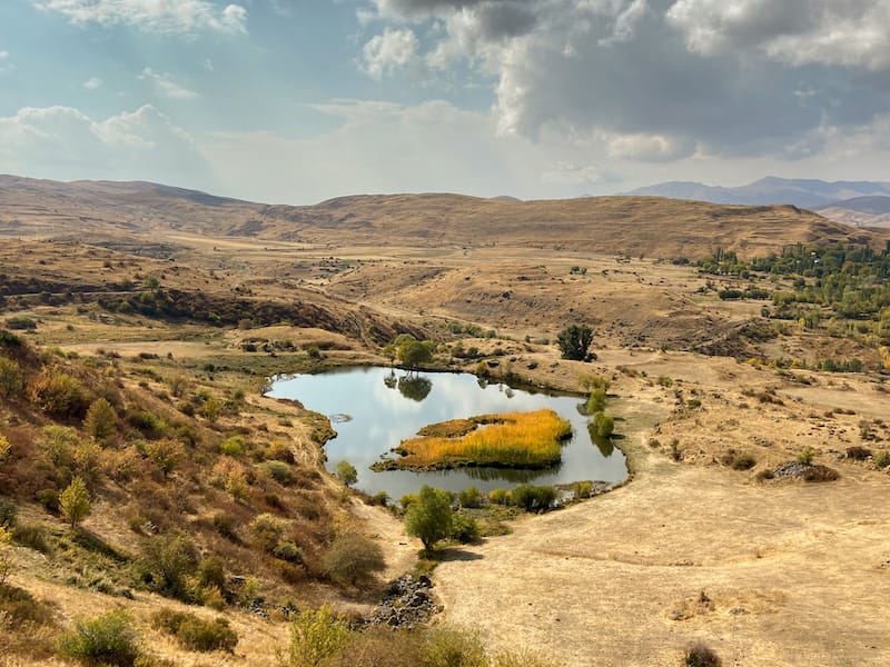
[[491, 86], [502, 136], [542, 141], [558, 132], [576, 148], [592, 146], [596, 161], [803, 160], [890, 109], [887, 0], [366, 0], [365, 8], [366, 21], [423, 36], [415, 60]]

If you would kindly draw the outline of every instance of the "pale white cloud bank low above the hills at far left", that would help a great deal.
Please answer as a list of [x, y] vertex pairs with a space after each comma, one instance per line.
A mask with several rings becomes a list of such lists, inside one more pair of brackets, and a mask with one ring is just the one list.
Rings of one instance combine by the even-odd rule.
[[26, 107], [0, 117], [0, 172], [210, 182], [191, 137], [151, 106], [101, 120], [71, 107]]

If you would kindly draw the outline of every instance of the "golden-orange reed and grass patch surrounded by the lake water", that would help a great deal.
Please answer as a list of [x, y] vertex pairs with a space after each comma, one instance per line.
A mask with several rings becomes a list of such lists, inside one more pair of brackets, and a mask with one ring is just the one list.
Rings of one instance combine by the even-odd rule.
[[560, 462], [561, 442], [572, 426], [553, 410], [481, 415], [421, 429], [393, 451], [396, 459], [379, 461], [377, 470], [442, 470], [465, 466], [548, 468]]

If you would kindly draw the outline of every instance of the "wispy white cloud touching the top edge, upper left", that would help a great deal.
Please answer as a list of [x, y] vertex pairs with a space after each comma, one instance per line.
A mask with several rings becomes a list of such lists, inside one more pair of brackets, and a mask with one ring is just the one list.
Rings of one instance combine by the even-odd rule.
[[204, 30], [246, 32], [247, 10], [240, 4], [220, 8], [207, 0], [31, 0], [43, 11], [72, 23], [135, 26], [147, 32], [191, 33]]

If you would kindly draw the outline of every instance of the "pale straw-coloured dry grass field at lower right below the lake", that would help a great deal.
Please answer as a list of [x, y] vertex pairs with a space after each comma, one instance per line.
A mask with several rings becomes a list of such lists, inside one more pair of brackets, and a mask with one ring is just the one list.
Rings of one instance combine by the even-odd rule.
[[441, 565], [447, 620], [572, 667], [698, 639], [724, 665], [890, 665], [887, 476], [764, 487], [634, 447], [627, 486]]

